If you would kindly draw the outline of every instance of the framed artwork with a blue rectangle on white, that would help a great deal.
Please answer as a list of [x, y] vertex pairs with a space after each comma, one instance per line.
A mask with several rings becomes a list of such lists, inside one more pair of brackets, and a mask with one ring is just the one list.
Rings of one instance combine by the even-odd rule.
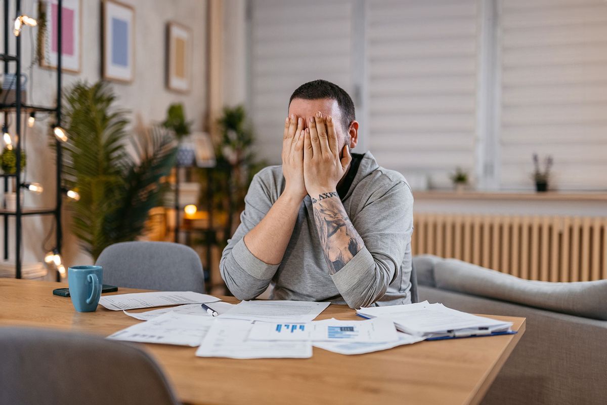
[[101, 26], [103, 78], [130, 83], [135, 78], [135, 10], [130, 5], [104, 0]]

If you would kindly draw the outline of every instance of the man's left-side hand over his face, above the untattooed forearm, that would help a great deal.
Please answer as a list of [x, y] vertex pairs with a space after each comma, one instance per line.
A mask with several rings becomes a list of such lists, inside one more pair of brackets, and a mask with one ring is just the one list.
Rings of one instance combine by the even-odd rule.
[[285, 191], [296, 199], [304, 199], [304, 118], [295, 114], [285, 120], [285, 132], [282, 137], [282, 174], [285, 176]]

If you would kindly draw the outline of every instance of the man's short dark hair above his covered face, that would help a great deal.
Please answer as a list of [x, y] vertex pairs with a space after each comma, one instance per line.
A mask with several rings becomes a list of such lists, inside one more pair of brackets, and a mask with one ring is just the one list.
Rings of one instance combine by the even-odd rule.
[[294, 98], [303, 98], [304, 100], [319, 100], [320, 98], [330, 98], [331, 100], [337, 101], [339, 111], [342, 115], [342, 124], [344, 125], [345, 131], [348, 131], [350, 124], [356, 117], [354, 117], [354, 103], [352, 98], [347, 92], [337, 84], [333, 84], [327, 80], [313, 80], [304, 83], [291, 94], [289, 99], [289, 105]]

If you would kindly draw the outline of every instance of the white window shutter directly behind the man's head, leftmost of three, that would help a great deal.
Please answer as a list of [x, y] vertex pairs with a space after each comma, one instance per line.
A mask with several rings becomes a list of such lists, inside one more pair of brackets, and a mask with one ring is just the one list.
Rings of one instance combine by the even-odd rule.
[[260, 158], [280, 163], [293, 90], [324, 79], [353, 96], [353, 1], [253, 0], [250, 7], [249, 112], [256, 149]]

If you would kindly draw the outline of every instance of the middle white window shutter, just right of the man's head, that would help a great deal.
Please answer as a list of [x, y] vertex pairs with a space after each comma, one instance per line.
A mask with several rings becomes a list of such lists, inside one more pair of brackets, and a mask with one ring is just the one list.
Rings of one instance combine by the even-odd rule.
[[475, 168], [478, 2], [367, 4], [369, 149], [405, 177]]

